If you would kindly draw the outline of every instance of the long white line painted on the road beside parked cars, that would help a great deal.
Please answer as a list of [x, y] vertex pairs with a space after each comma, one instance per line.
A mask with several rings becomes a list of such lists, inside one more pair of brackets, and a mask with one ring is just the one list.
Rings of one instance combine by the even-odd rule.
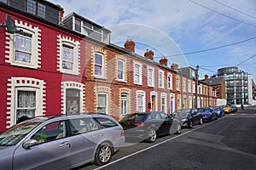
[[[214, 122], [218, 122], [218, 121], [224, 119], [225, 117], [227, 117], [227, 116], [224, 116], [224, 117], [222, 117], [222, 118], [218, 118], [218, 120], [215, 120]], [[190, 131], [188, 131], [188, 132], [181, 133], [181, 134], [179, 134], [179, 135], [177, 135], [177, 136], [172, 137], [171, 139], [166, 139], [166, 140], [164, 140], [164, 141], [162, 141], [162, 142], [160, 142], [160, 143], [158, 143], [158, 144], [151, 145], [151, 146], [149, 146], [148, 148], [145, 148], [145, 149], [143, 149], [143, 150], [138, 150], [137, 152], [135, 152], [135, 153], [133, 153], [133, 154], [130, 154], [130, 155], [128, 155], [128, 156], [124, 156], [124, 157], [122, 157], [122, 158], [120, 158], [120, 159], [118, 159], [118, 160], [115, 160], [115, 161], [111, 161], [111, 162], [109, 162], [108, 164], [103, 165], [102, 167], [97, 167], [95, 170], [102, 169], [103, 167], [108, 167], [109, 165], [112, 165], [112, 164], [114, 164], [114, 163], [116, 163], [116, 162], [118, 162], [118, 161], [125, 160], [126, 158], [131, 157], [131, 156], [135, 156], [135, 155], [137, 155], [137, 154], [139, 154], [139, 153], [141, 153], [141, 152], [143, 152], [143, 151], [150, 150], [150, 149], [152, 149], [152, 148], [154, 148], [154, 147], [156, 147], [156, 146], [159, 146], [160, 144], [164, 144], [164, 143], [166, 143], [166, 142], [168, 142], [168, 141], [171, 141], [171, 140], [173, 140], [173, 139], [177, 139], [177, 138], [179, 138], [179, 137], [182, 137], [182, 136], [185, 135], [185, 134], [194, 132], [194, 131], [197, 130], [197, 129], [200, 129], [200, 128], [202, 128], [202, 127], [207, 127], [208, 125], [211, 125], [212, 123], [213, 123], [213, 122], [207, 122], [207, 124], [205, 124], [205, 125], [201, 125], [200, 127], [196, 127], [195, 129], [192, 129], [192, 130], [190, 130]]]

